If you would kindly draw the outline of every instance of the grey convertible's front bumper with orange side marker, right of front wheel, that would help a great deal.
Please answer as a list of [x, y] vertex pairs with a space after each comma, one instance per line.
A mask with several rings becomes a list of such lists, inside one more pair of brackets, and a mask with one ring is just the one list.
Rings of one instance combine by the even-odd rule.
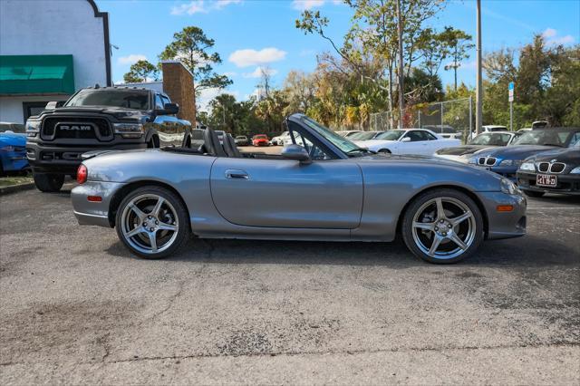
[[[478, 197], [488, 215], [488, 238], [511, 238], [526, 235], [526, 208], [524, 196], [503, 192], [479, 192]], [[511, 205], [510, 212], [498, 212], [498, 206]]]

